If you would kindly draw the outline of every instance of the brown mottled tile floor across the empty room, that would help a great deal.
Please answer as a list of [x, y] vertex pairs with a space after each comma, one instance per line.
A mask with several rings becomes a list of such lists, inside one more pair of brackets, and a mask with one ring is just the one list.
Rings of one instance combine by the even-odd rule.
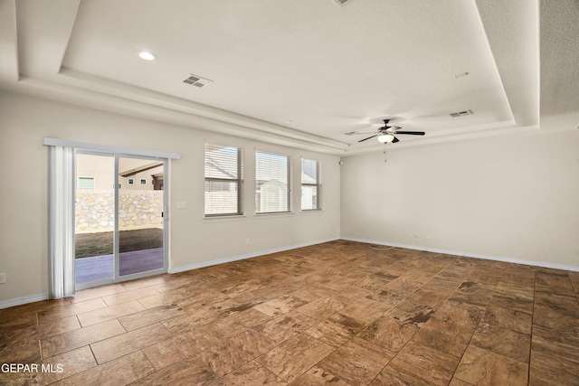
[[578, 292], [337, 240], [0, 310], [0, 364], [39, 365], [0, 384], [577, 385]]

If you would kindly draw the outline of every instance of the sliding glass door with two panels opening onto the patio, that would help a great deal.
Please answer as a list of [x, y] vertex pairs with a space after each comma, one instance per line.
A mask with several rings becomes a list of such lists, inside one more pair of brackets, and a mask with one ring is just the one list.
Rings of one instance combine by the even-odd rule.
[[166, 161], [77, 151], [77, 289], [166, 272]]

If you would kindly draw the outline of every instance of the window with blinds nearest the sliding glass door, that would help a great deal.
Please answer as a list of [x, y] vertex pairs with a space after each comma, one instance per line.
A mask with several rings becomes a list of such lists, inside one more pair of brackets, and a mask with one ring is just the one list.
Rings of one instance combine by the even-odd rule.
[[205, 144], [205, 216], [243, 214], [243, 149]]

